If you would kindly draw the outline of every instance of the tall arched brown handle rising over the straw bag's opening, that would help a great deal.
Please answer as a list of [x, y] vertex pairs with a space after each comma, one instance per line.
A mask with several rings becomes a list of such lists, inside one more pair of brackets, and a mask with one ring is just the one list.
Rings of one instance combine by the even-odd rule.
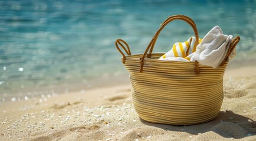
[[[187, 16], [184, 16], [184, 15], [174, 15], [174, 16], [170, 16], [168, 17], [164, 22], [163, 24], [160, 26], [160, 28], [157, 30], [157, 32], [155, 33], [155, 35], [153, 36], [153, 38], [151, 39], [150, 43], [148, 44], [147, 46], [147, 49], [145, 50], [144, 54], [141, 56], [140, 58], [140, 72], [143, 72], [143, 61], [144, 61], [144, 58], [145, 56], [151, 56], [151, 53], [154, 49], [154, 45], [155, 45], [155, 42], [157, 41], [157, 38], [160, 34], [160, 32], [162, 31], [162, 29], [168, 24], [170, 23], [171, 21], [174, 21], [174, 20], [182, 20], [184, 22], [187, 22], [187, 24], [189, 24], [190, 26], [192, 26], [193, 28], [193, 31], [195, 33], [195, 36], [196, 36], [196, 41], [195, 41], [195, 45], [197, 46], [199, 44], [199, 35], [198, 35], [198, 32], [197, 32], [197, 28], [196, 28], [196, 24], [195, 22], [190, 19], [189, 17]], [[148, 51], [150, 50], [150, 52], [148, 53]], [[148, 55], [147, 55], [148, 53]], [[199, 62], [195, 62], [195, 73], [196, 74], [199, 74]]]

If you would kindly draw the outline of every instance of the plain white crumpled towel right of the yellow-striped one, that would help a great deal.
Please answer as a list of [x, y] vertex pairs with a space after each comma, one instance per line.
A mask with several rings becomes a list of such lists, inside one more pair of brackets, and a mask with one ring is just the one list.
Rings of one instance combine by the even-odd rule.
[[232, 35], [223, 35], [221, 28], [215, 26], [197, 45], [190, 61], [198, 61], [202, 65], [218, 68], [226, 56], [232, 37]]

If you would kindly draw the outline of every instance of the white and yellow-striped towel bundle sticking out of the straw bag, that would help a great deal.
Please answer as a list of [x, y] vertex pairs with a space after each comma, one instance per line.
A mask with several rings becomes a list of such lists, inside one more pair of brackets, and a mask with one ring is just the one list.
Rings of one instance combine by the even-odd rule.
[[199, 45], [195, 46], [195, 40], [195, 37], [191, 37], [184, 43], [174, 43], [173, 48], [159, 59], [165, 61], [198, 61], [202, 65], [218, 68], [228, 51], [232, 35], [223, 35], [221, 28], [215, 26], [203, 39], [199, 39]]

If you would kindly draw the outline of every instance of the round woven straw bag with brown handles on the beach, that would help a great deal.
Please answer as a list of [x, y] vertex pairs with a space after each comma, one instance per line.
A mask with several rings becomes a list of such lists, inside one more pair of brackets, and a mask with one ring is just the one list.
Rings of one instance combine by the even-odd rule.
[[[240, 38], [237, 36], [232, 39], [225, 59], [216, 69], [200, 65], [197, 61], [160, 61], [158, 58], [164, 53], [152, 53], [155, 42], [164, 26], [177, 19], [192, 26], [197, 45], [199, 36], [196, 24], [184, 15], [167, 18], [144, 53], [131, 55], [128, 44], [122, 39], [117, 39], [115, 45], [130, 73], [132, 100], [141, 119], [170, 125], [208, 122], [214, 119], [221, 109], [223, 75], [228, 65], [228, 56]], [[127, 55], [124, 55], [120, 46]]]

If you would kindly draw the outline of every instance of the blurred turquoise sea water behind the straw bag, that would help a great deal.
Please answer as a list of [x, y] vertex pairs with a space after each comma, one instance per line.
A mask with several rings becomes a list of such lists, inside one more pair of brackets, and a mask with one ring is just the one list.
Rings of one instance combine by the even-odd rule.
[[[238, 56], [256, 52], [256, 1], [0, 1], [0, 102], [112, 83], [127, 74], [115, 39], [144, 52], [176, 14], [190, 16], [200, 38], [219, 25], [241, 36]], [[171, 22], [154, 52], [190, 36], [186, 23]]]

